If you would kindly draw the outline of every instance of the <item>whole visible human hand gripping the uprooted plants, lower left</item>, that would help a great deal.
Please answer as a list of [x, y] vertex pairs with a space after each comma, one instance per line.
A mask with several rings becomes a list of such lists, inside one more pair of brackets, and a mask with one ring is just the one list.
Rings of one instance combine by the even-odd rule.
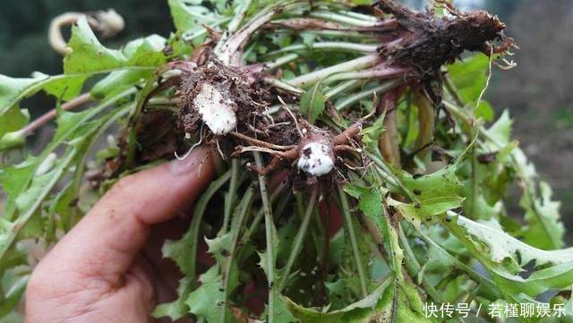
[[26, 322], [150, 322], [156, 278], [140, 252], [151, 226], [189, 208], [210, 182], [208, 154], [198, 149], [115, 183], [34, 269]]

